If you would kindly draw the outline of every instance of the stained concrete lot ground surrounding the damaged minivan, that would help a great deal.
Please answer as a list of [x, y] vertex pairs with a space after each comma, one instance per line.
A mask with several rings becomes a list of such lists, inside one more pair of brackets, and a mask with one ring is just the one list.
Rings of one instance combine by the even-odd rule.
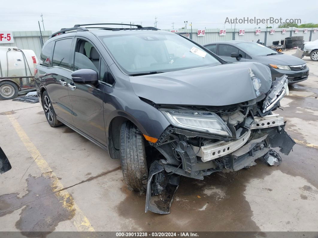
[[318, 63], [304, 60], [308, 80], [290, 86], [277, 110], [294, 151], [279, 167], [256, 161], [182, 178], [168, 215], [144, 213], [145, 194], [128, 191], [120, 161], [50, 127], [39, 104], [0, 101], [0, 145], [12, 165], [0, 176], [0, 231], [318, 231]]

